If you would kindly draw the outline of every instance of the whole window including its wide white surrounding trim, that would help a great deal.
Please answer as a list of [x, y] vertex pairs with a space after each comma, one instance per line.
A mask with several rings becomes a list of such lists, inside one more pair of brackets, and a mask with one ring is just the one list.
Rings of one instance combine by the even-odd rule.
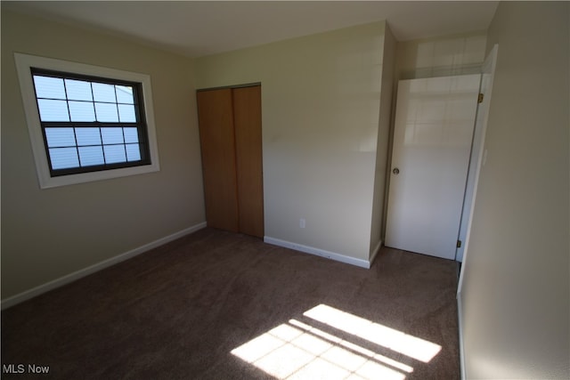
[[40, 187], [159, 170], [150, 77], [16, 54]]

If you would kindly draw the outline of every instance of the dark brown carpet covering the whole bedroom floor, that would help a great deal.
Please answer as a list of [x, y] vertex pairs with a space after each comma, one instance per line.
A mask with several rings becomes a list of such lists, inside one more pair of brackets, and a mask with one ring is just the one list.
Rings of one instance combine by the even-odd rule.
[[458, 379], [456, 270], [207, 228], [3, 311], [2, 378]]

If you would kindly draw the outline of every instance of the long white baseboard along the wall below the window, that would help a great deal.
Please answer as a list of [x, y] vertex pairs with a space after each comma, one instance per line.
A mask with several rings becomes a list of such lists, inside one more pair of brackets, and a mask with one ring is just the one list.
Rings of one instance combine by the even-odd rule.
[[197, 230], [201, 230], [205, 227], [206, 227], [206, 222], [200, 222], [200, 223], [198, 223], [194, 226], [191, 226], [187, 229], [179, 230], [178, 232], [175, 232], [172, 235], [168, 235], [164, 238], [151, 241], [151, 243], [145, 244], [142, 247], [134, 248], [130, 251], [125, 252], [124, 254], [120, 254], [120, 255], [111, 257], [107, 260], [103, 260], [100, 263], [95, 263], [95, 264], [90, 265], [86, 268], [80, 269], [79, 271], [74, 271], [72, 273], [66, 274], [65, 276], [60, 277], [59, 279], [53, 279], [52, 281], [46, 282], [45, 284], [40, 285], [38, 287], [33, 287], [33, 288], [26, 290], [26, 291], [24, 291], [18, 295], [12, 295], [12, 297], [8, 297], [5, 300], [2, 300], [1, 308], [2, 308], [2, 310], [7, 309], [7, 308], [9, 308], [15, 304], [22, 303], [22, 302], [27, 301], [28, 299], [33, 298], [37, 295], [41, 295], [41, 294], [44, 294], [45, 292], [53, 290], [56, 287], [61, 287], [63, 285], [69, 284], [69, 282], [73, 282], [76, 279], [81, 279], [82, 277], [85, 277], [85, 276], [92, 274], [96, 271], [101, 271], [102, 269], [110, 267], [111, 265], [114, 265], [116, 263], [124, 262], [125, 260], [130, 259], [136, 255], [141, 255], [142, 253], [147, 252], [147, 251], [151, 250], [152, 248], [162, 246], [164, 244], [167, 244], [170, 241], [182, 238], [185, 235], [188, 235], [188, 234], [195, 232]]

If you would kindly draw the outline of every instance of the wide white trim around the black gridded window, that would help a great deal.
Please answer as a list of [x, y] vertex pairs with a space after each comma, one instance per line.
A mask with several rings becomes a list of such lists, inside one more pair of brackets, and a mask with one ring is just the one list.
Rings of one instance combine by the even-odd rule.
[[[160, 170], [159, 150], [154, 124], [154, 111], [152, 109], [151, 77], [149, 75], [118, 69], [103, 68], [101, 66], [87, 65], [84, 63], [55, 60], [53, 58], [45, 58], [22, 53], [14, 53], [14, 59], [16, 61], [16, 69], [18, 70], [21, 97], [24, 105], [24, 111], [26, 113], [26, 121], [28, 123], [29, 140], [34, 153], [34, 159], [36, 161], [37, 178], [41, 189], [49, 189], [83, 182], [102, 181], [111, 178], [125, 177], [128, 175], [146, 174], [158, 172]], [[48, 157], [45, 151], [44, 136], [40, 125], [36, 92], [34, 90], [34, 82], [30, 71], [31, 68], [52, 69], [87, 76], [106, 77], [110, 79], [140, 83], [142, 85], [144, 117], [146, 117], [146, 132], [148, 134], [151, 164], [52, 177], [50, 174]]]

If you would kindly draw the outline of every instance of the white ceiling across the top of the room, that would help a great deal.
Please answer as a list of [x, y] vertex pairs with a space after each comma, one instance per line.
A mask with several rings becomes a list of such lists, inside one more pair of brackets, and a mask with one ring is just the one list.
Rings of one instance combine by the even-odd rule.
[[399, 41], [481, 31], [498, 1], [2, 1], [188, 57], [387, 20]]

